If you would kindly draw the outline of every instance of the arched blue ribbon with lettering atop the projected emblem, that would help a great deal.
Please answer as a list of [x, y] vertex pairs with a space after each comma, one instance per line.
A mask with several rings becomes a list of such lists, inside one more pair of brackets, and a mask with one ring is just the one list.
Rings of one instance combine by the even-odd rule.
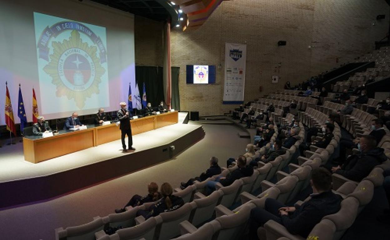
[[42, 35], [38, 41], [39, 58], [49, 61], [48, 44], [51, 37], [57, 37], [60, 33], [66, 30], [76, 30], [87, 35], [92, 40], [92, 42], [94, 42], [99, 48], [100, 63], [105, 63], [107, 61], [106, 48], [104, 47], [100, 37], [98, 37], [94, 32], [92, 32], [92, 30], [90, 30], [90, 28], [88, 28], [87, 26], [74, 21], [59, 22], [51, 27], [47, 26], [43, 30]]

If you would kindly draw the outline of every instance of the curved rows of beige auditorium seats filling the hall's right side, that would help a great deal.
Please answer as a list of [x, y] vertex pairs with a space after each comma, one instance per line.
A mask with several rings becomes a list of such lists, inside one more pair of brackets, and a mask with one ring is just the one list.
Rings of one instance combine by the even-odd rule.
[[[384, 55], [379, 54], [378, 56], [382, 57]], [[371, 69], [370, 71], [376, 71], [378, 75], [378, 72], [383, 72], [384, 69], [386, 68], [378, 67], [378, 70]], [[355, 80], [353, 81], [355, 82]], [[339, 85], [337, 91], [344, 89], [342, 86], [344, 85]], [[348, 88], [351, 86], [353, 85], [348, 85]], [[344, 105], [329, 102], [335, 95], [328, 95], [324, 98], [326, 101], [322, 101], [323, 105], [317, 105], [318, 98], [297, 96], [299, 92], [296, 90], [277, 91], [277, 93], [269, 94], [267, 98], [259, 98], [250, 105], [255, 110], [255, 115], [252, 117], [260, 114], [261, 110], [267, 111], [270, 104], [275, 106], [275, 112], [269, 112], [269, 116], [273, 116], [275, 133], [268, 144], [257, 150], [254, 156], [246, 159], [247, 164], [252, 159], [258, 158], [269, 151], [280, 133], [277, 124], [291, 124], [294, 119], [298, 119], [300, 127], [300, 140], [290, 149], [285, 149], [285, 154], [278, 156], [274, 161], [269, 163], [259, 161], [258, 168], [254, 169], [252, 176], [235, 180], [230, 186], [222, 186], [217, 183], [216, 191], [209, 196], [205, 196], [206, 183], [209, 180], [215, 180], [218, 176], [227, 176], [238, 168], [237, 165], [230, 168], [223, 167], [223, 171], [219, 175], [202, 182], [194, 181], [193, 185], [183, 190], [180, 188], [174, 189], [174, 195], [180, 196], [185, 203], [177, 210], [164, 212], [145, 220], [142, 216], [137, 217], [137, 211], [148, 209], [154, 203], [145, 203], [134, 208], [127, 207], [126, 212], [123, 213], [95, 217], [91, 222], [80, 226], [56, 229], [57, 239], [245, 239], [243, 236], [246, 236], [252, 208], [264, 208], [267, 198], [276, 199], [281, 203], [291, 203], [300, 196], [304, 189], [309, 187], [312, 170], [332, 162], [340, 143], [340, 127], [349, 131], [353, 136], [360, 137], [370, 132], [371, 121], [379, 117], [367, 112], [367, 109], [374, 107], [379, 100], [370, 99], [367, 104], [357, 105], [352, 114], [340, 116], [341, 126], [335, 123], [334, 137], [326, 147], [318, 148], [312, 145], [310, 150], [305, 151], [305, 156], [300, 156], [298, 149], [305, 139], [305, 127], [324, 126], [329, 115], [342, 109]], [[318, 95], [319, 92], [313, 92], [313, 96]], [[289, 107], [292, 100], [297, 102], [296, 111], [283, 117], [284, 108]], [[243, 113], [248, 113], [250, 107], [244, 109], [241, 116]], [[258, 121], [257, 125], [261, 125], [263, 122]], [[390, 133], [387, 128], [386, 132], [387, 135], [383, 137], [378, 146], [385, 149], [386, 156], [390, 156]], [[317, 138], [320, 136], [321, 134]], [[341, 208], [339, 212], [323, 217], [312, 229], [307, 239], [340, 239], [347, 229], [352, 226], [363, 208], [370, 203], [374, 188], [381, 186], [383, 183], [383, 171], [389, 168], [390, 160], [387, 159], [385, 163], [376, 166], [361, 182], [351, 181], [334, 173], [332, 175], [332, 191], [342, 196]], [[310, 196], [305, 200], [301, 199], [303, 201], [296, 201], [295, 204], [299, 206], [308, 199], [310, 199]], [[104, 231], [110, 227], [119, 226], [122, 229], [117, 230], [112, 235], [107, 235]], [[259, 228], [258, 236], [259, 239], [267, 240], [304, 239], [301, 236], [292, 235], [284, 226], [272, 220]]]

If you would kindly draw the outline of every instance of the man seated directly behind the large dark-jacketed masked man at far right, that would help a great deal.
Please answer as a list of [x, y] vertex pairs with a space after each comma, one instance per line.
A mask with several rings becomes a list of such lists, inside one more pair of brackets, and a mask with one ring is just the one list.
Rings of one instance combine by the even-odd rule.
[[[369, 135], [375, 138], [376, 143], [381, 142], [383, 136], [386, 135], [385, 128], [383, 128], [383, 121], [381, 119], [375, 119], [372, 121], [371, 132]], [[333, 159], [333, 163], [337, 165], [342, 165], [346, 159], [347, 149], [358, 148], [359, 138], [355, 140], [349, 138], [340, 139], [340, 156], [337, 159]]]

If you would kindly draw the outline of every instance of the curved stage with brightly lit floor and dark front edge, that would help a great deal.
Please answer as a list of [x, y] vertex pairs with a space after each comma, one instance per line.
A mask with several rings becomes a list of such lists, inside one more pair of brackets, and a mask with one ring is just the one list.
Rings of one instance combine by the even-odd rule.
[[134, 135], [134, 152], [122, 153], [116, 140], [33, 164], [24, 160], [23, 144], [3, 147], [0, 209], [49, 200], [171, 159], [204, 137], [202, 126], [183, 124], [186, 115], [179, 113], [177, 124]]

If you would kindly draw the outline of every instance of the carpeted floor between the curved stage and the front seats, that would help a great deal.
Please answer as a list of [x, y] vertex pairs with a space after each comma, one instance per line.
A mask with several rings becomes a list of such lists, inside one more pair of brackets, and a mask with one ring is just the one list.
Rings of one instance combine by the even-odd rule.
[[203, 127], [204, 139], [170, 161], [54, 200], [0, 211], [0, 239], [55, 239], [55, 228], [84, 224], [95, 216], [113, 213], [133, 194], [146, 194], [146, 186], [152, 181], [159, 186], [169, 182], [179, 187], [180, 182], [204, 172], [211, 156], [216, 156], [220, 165], [225, 166], [225, 160], [243, 154], [250, 141], [239, 138], [240, 130], [231, 125], [204, 124]]

